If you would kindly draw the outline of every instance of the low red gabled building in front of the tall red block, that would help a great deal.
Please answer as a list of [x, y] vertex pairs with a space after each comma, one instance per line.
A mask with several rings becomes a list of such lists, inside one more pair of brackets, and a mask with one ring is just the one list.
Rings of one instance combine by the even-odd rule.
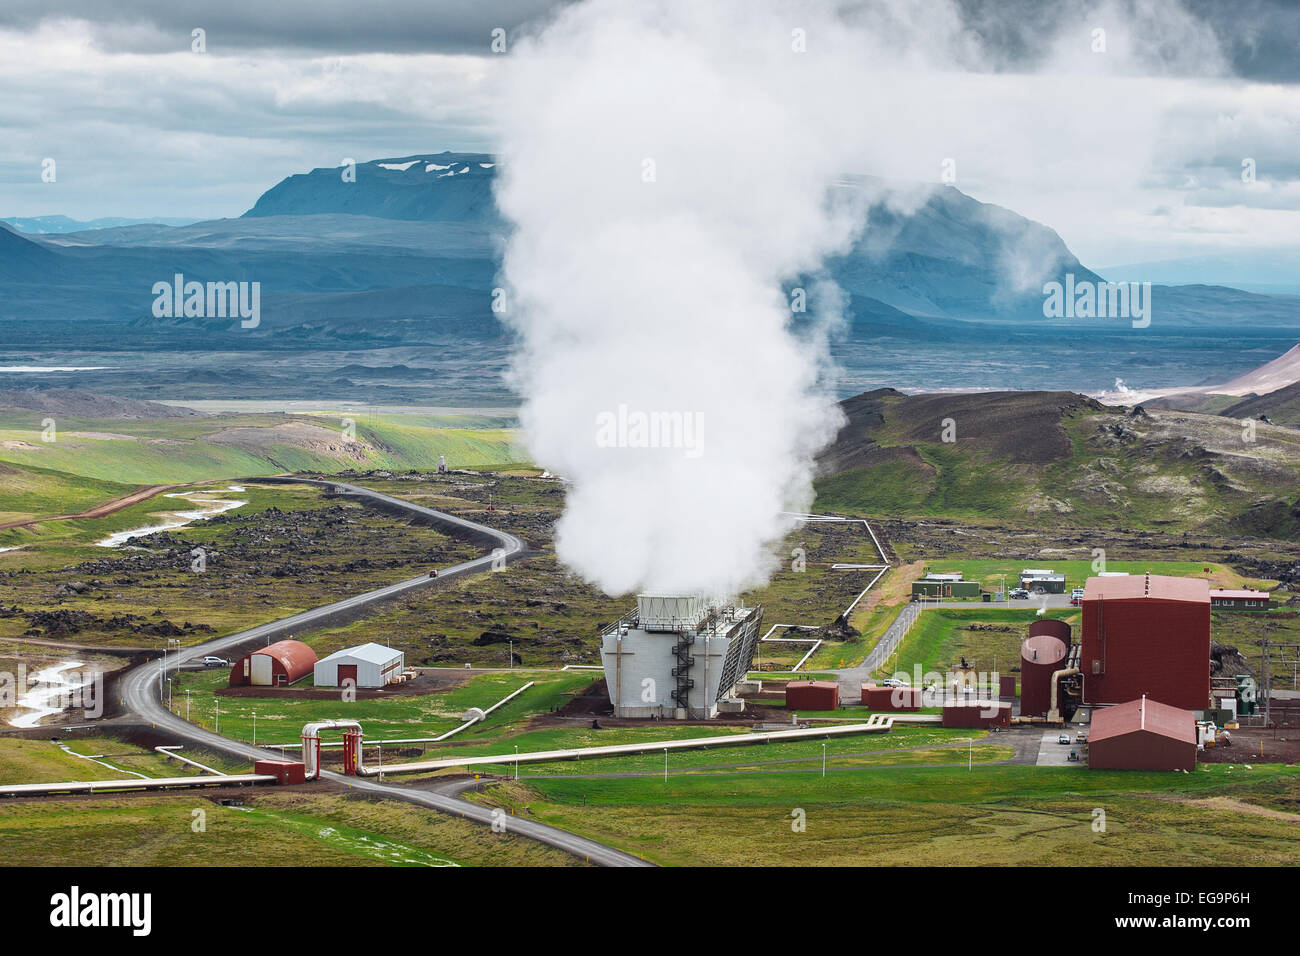
[[1088, 766], [1093, 770], [1195, 770], [1196, 715], [1139, 697], [1092, 711]]

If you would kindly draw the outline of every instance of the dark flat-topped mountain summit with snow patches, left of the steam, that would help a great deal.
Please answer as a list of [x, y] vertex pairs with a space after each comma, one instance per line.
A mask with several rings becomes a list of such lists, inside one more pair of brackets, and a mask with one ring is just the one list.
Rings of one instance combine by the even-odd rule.
[[373, 160], [356, 165], [355, 182], [343, 178], [343, 166], [313, 169], [266, 190], [244, 217], [347, 213], [498, 224], [491, 195], [495, 164], [481, 152]]

